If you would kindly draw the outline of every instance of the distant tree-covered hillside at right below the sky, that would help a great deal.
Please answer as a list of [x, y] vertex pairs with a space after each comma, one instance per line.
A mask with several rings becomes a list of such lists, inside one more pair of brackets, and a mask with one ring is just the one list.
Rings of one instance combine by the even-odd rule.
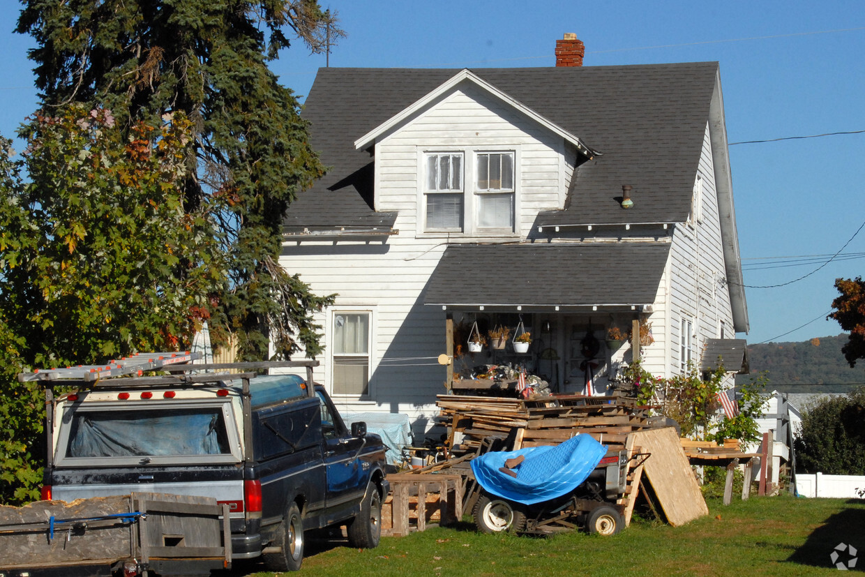
[[[803, 385], [823, 385], [822, 393], [845, 393], [850, 385], [865, 385], [865, 360], [850, 369], [841, 347], [847, 335], [812, 338], [802, 343], [749, 344], [751, 375], [768, 371], [772, 388], [798, 392]], [[737, 383], [747, 382], [748, 375], [738, 375]], [[837, 389], [837, 390], [834, 390]]]

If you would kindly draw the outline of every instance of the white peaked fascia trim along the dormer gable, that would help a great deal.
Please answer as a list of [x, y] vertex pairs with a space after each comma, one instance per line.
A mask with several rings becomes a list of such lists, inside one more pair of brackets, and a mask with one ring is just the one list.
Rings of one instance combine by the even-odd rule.
[[355, 141], [355, 148], [357, 150], [363, 150], [368, 148], [368, 146], [373, 144], [377, 138], [381, 137], [382, 134], [385, 134], [388, 131], [392, 130], [394, 126], [400, 125], [401, 123], [405, 122], [407, 119], [411, 118], [413, 114], [424, 109], [426, 106], [429, 106], [436, 99], [439, 99], [445, 93], [450, 92], [453, 88], [457, 87], [457, 85], [464, 80], [473, 82], [478, 87], [481, 87], [497, 99], [502, 100], [505, 104], [513, 107], [518, 112], [522, 112], [522, 114], [529, 117], [529, 119], [534, 120], [539, 125], [543, 126], [549, 131], [554, 132], [554, 134], [557, 134], [561, 138], [564, 138], [567, 142], [576, 146], [577, 149], [586, 156], [591, 158], [600, 154], [598, 151], [594, 151], [592, 148], [584, 144], [580, 140], [580, 138], [571, 134], [569, 131], [566, 131], [561, 126], [550, 122], [548, 119], [541, 116], [541, 114], [538, 114], [537, 112], [529, 108], [529, 106], [523, 105], [522, 102], [520, 102], [519, 100], [510, 97], [507, 93], [503, 93], [497, 87], [494, 87], [486, 80], [477, 76], [477, 74], [472, 73], [471, 70], [469, 70], [468, 68], [463, 68], [457, 74], [454, 74], [449, 80], [445, 81], [441, 86], [439, 86], [432, 92], [427, 93], [423, 98], [417, 100], [411, 106], [404, 108], [401, 112], [395, 114], [390, 119], [381, 123], [381, 125], [376, 126], [373, 130], [368, 131], [361, 138], [358, 138]]

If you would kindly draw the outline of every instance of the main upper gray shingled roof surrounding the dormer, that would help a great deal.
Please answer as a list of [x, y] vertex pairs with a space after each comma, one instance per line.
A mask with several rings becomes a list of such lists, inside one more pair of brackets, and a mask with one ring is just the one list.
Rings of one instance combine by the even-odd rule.
[[[716, 62], [471, 71], [604, 152], [578, 168], [566, 210], [541, 213], [535, 225], [687, 218]], [[286, 228], [391, 226], [393, 213], [373, 210], [373, 158], [353, 143], [457, 73], [319, 69], [303, 115], [312, 146], [331, 168], [292, 203]], [[623, 184], [633, 187], [627, 211], [617, 199]]]

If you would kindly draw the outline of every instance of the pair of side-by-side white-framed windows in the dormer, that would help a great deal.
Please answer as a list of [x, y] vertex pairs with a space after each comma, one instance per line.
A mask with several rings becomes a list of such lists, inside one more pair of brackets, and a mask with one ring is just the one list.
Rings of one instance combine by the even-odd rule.
[[515, 151], [423, 153], [426, 233], [513, 234]]

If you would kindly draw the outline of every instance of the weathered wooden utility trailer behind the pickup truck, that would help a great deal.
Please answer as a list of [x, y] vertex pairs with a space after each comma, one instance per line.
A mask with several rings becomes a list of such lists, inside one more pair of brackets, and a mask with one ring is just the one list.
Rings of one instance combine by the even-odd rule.
[[0, 575], [207, 575], [231, 567], [228, 506], [159, 493], [0, 506]]

